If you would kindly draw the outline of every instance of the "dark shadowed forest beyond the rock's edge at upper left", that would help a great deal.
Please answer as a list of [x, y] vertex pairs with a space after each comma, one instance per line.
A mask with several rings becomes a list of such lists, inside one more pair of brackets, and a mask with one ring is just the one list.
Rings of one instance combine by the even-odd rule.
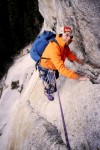
[[35, 39], [42, 23], [38, 0], [0, 1], [0, 78], [12, 64], [13, 56]]

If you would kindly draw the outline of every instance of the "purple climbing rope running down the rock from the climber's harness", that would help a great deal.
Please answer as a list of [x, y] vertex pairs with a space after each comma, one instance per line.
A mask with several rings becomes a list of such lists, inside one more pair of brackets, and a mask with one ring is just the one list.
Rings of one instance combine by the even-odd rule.
[[[56, 84], [56, 85], [57, 85], [57, 84]], [[62, 124], [63, 124], [64, 134], [65, 134], [65, 140], [66, 140], [66, 148], [67, 148], [67, 150], [71, 150], [58, 88], [57, 88], [57, 93], [58, 93], [58, 100], [59, 100], [59, 106], [60, 106]]]

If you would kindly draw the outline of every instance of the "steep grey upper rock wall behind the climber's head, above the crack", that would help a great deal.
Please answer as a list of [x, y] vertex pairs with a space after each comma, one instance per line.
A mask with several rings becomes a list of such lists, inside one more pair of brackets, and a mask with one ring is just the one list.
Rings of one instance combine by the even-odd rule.
[[85, 62], [100, 67], [100, 1], [39, 0], [44, 29], [59, 32], [59, 27], [73, 28], [73, 51]]

